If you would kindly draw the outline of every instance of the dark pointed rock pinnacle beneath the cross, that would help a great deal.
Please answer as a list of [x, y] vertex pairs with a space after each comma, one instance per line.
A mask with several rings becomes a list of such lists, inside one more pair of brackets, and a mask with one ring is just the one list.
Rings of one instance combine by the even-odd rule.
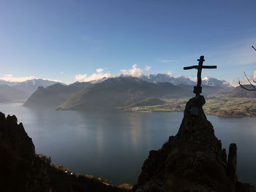
[[[236, 144], [225, 149], [203, 112], [203, 96], [187, 102], [175, 137], [151, 150], [133, 191], [249, 191], [236, 177]], [[154, 190], [152, 190], [154, 188]]]

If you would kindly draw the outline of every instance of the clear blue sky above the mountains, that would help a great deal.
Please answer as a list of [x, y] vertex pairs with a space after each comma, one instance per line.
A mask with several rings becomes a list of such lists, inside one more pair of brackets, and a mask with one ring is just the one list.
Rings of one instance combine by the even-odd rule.
[[231, 82], [256, 69], [255, 0], [0, 2], [0, 77], [193, 77], [196, 71], [183, 67], [200, 55], [218, 67], [203, 76]]

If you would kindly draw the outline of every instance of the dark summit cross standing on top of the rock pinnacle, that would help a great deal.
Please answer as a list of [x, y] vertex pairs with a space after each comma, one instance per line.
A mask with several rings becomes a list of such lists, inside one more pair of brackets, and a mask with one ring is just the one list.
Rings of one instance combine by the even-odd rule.
[[184, 70], [187, 69], [197, 69], [197, 86], [194, 87], [194, 91], [193, 93], [195, 93], [195, 96], [199, 96], [200, 93], [202, 93], [202, 79], [201, 79], [201, 73], [202, 73], [202, 69], [217, 69], [217, 66], [203, 66], [203, 61], [204, 60], [204, 56], [200, 56], [200, 59], [197, 59], [198, 65], [194, 65], [194, 66], [185, 66]]

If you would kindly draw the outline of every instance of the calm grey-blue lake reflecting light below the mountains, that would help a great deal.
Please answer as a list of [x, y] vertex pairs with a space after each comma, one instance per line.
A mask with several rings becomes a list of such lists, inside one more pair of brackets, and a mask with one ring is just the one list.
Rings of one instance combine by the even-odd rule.
[[[103, 177], [114, 184], [136, 183], [149, 150], [175, 135], [182, 112], [75, 112], [33, 110], [21, 104], [0, 104], [5, 115], [16, 115], [36, 153], [50, 156], [72, 172]], [[239, 180], [256, 185], [256, 118], [207, 116], [222, 146], [238, 146]]]

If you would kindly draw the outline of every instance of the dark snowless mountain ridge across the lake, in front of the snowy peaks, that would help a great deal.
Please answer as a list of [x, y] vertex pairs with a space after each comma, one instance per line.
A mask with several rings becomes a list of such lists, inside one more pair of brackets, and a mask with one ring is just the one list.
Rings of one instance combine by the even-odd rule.
[[[187, 77], [184, 79], [187, 80]], [[91, 82], [75, 82], [70, 85], [56, 83], [47, 88], [39, 87], [24, 106], [57, 107], [59, 110], [109, 109], [124, 107], [148, 98], [193, 96], [193, 87], [194, 85], [173, 85], [165, 81], [147, 82], [138, 77], [127, 76], [108, 78], [94, 84]], [[207, 96], [222, 89], [218, 86], [203, 85], [203, 94]]]

